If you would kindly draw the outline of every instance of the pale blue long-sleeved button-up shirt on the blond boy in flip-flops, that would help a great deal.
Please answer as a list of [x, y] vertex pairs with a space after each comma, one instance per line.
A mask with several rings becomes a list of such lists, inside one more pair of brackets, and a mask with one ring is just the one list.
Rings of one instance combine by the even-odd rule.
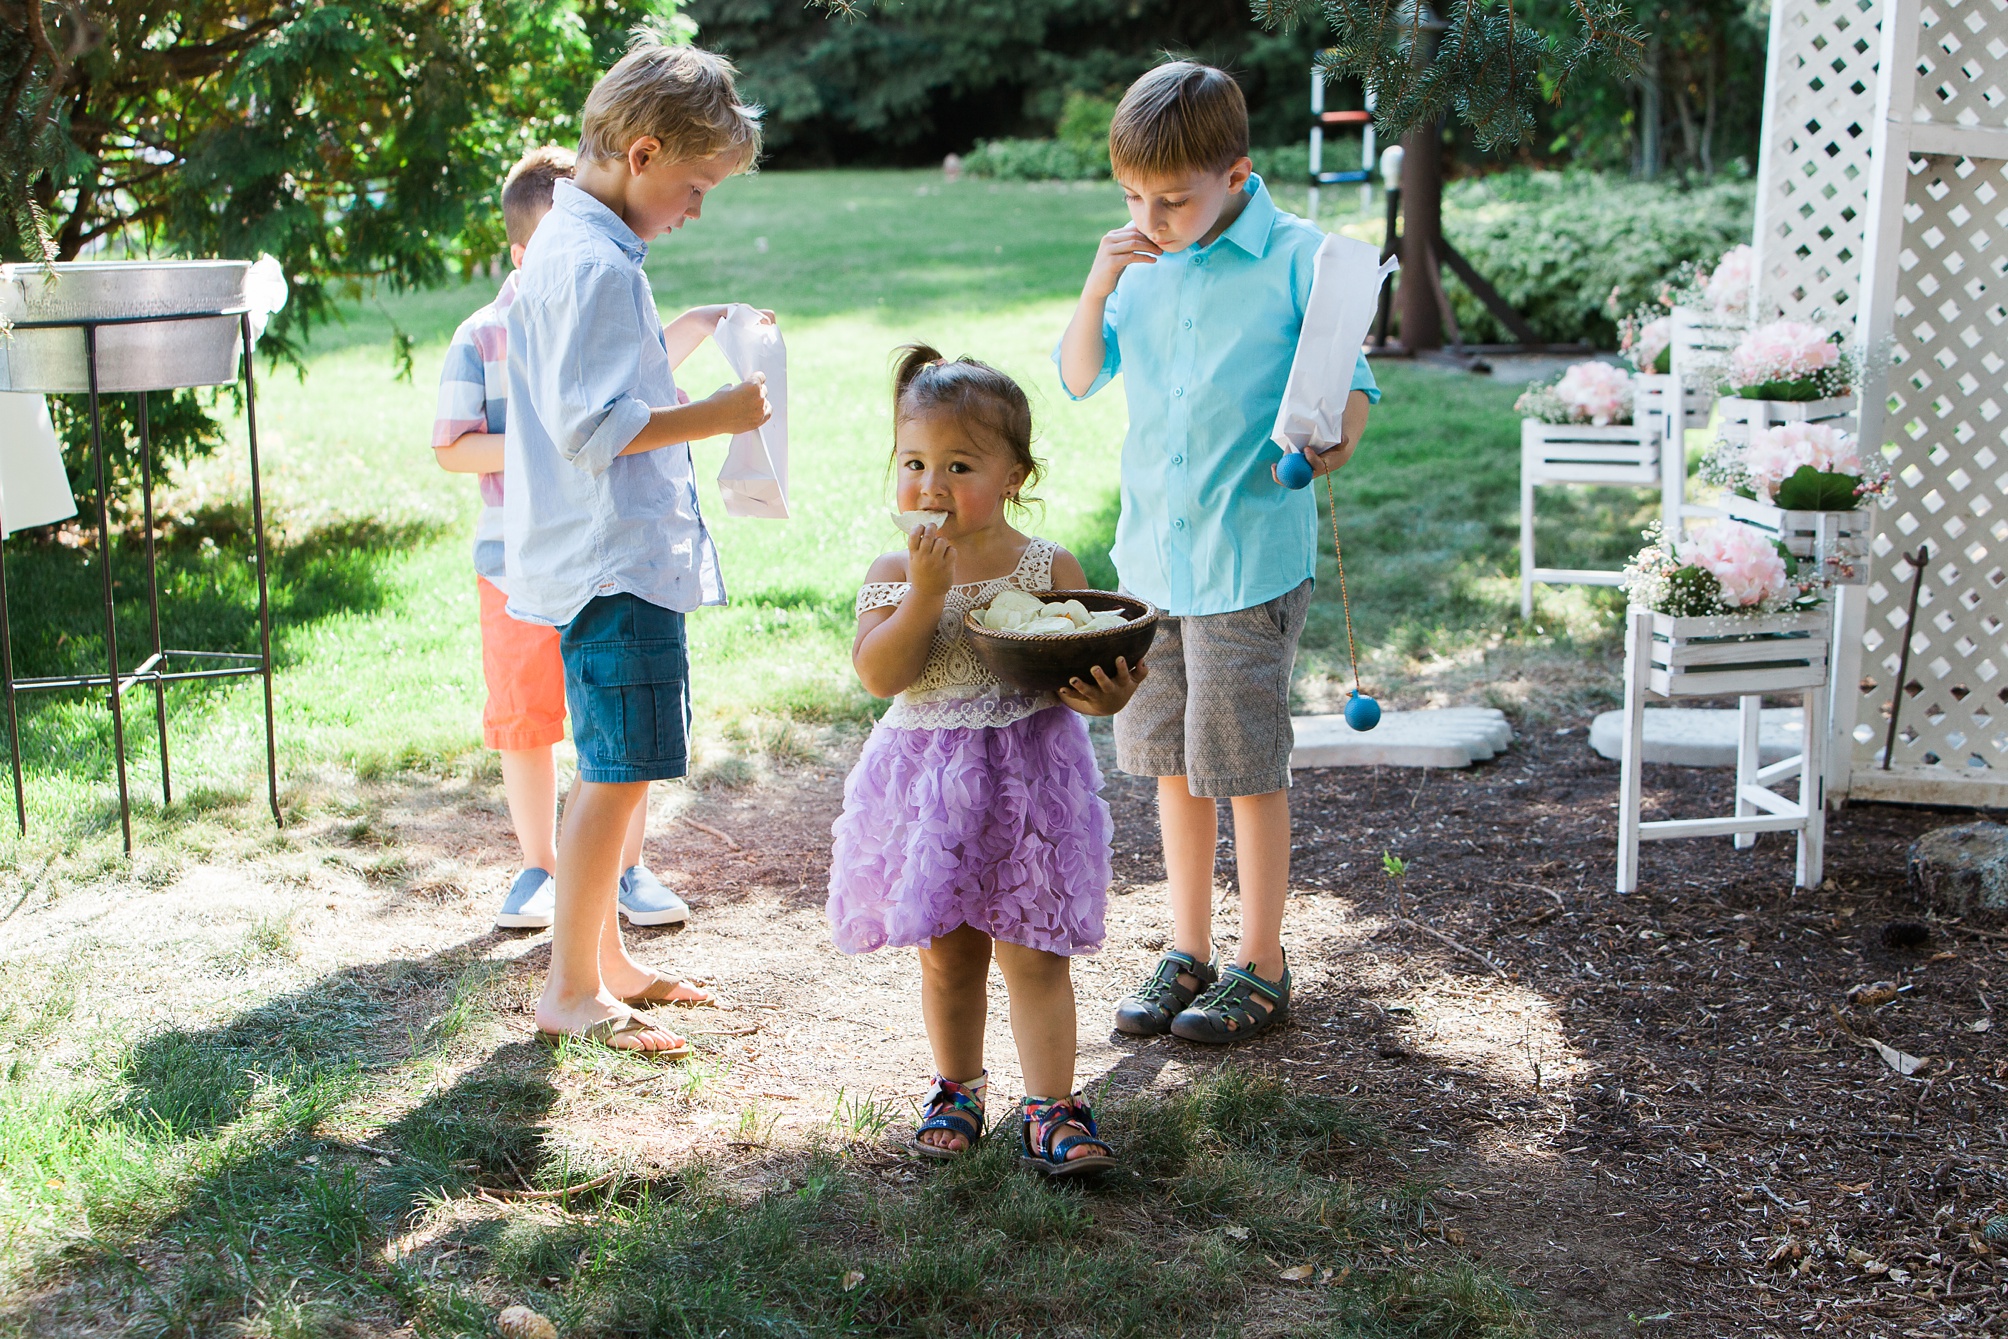
[[564, 626], [620, 592], [677, 612], [725, 602], [691, 448], [620, 454], [677, 404], [645, 255], [614, 211], [560, 181], [522, 257], [502, 448], [514, 618]]

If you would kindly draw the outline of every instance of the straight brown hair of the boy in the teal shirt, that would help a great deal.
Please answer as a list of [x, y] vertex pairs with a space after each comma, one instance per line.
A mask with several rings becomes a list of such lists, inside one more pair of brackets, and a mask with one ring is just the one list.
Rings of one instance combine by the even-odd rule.
[[1116, 177], [1225, 173], [1249, 153], [1249, 104], [1225, 70], [1197, 60], [1157, 66], [1122, 94], [1108, 122]]

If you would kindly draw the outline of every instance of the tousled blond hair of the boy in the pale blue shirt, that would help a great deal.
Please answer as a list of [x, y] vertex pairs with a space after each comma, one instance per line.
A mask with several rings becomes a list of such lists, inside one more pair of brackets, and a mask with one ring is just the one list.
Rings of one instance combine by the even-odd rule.
[[578, 132], [588, 163], [624, 159], [653, 135], [677, 163], [739, 151], [743, 167], [759, 157], [759, 108], [739, 100], [733, 62], [697, 46], [643, 38], [592, 84]]

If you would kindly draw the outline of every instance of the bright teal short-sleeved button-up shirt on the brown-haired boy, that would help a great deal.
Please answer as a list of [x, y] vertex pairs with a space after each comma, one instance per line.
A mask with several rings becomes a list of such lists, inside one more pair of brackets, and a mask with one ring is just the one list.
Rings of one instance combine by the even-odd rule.
[[[1102, 369], [1074, 395], [1122, 373], [1131, 426], [1110, 558], [1131, 592], [1179, 616], [1253, 608], [1317, 570], [1317, 498], [1269, 476], [1283, 458], [1269, 432], [1325, 233], [1277, 209], [1261, 177], [1247, 189], [1211, 245], [1122, 271]], [[1365, 355], [1353, 389], [1379, 401]]]

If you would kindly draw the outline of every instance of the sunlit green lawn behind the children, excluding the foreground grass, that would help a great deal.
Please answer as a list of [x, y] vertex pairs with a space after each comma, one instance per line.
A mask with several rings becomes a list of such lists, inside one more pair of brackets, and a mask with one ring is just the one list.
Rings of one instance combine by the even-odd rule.
[[[727, 759], [761, 721], [863, 723], [873, 705], [849, 668], [851, 596], [896, 542], [886, 522], [892, 442], [888, 357], [926, 339], [1002, 365], [1032, 395], [1050, 462], [1034, 530], [1110, 582], [1120, 387], [1074, 404], [1048, 353], [1102, 231], [1124, 219], [1106, 183], [1024, 185], [938, 173], [769, 173], [721, 187], [705, 217], [651, 249], [667, 315], [711, 301], [773, 307], [789, 341], [789, 522], [735, 520], [711, 478], [723, 442], [697, 448], [701, 498], [733, 604], [691, 618], [701, 739]], [[1327, 219], [1331, 221], [1331, 219]], [[303, 375], [261, 369], [259, 426], [275, 532], [279, 749], [291, 785], [478, 757], [480, 638], [468, 538], [474, 482], [428, 450], [434, 387], [454, 325], [494, 291], [365, 297], [315, 331]], [[394, 329], [414, 341], [398, 379]], [[1375, 650], [1375, 691], [1412, 664], [1484, 644], [1514, 606], [1520, 389], [1440, 367], [1382, 363], [1386, 401], [1339, 484], [1353, 622]], [[705, 395], [729, 379], [711, 345], [681, 369]], [[193, 468], [169, 498], [163, 544], [169, 644], [251, 648], [251, 566], [241, 424], [233, 450]], [[1546, 504], [1544, 504], [1546, 506]], [[1630, 540], [1620, 504], [1556, 500], [1554, 562], [1610, 560]], [[1325, 540], [1329, 546], [1329, 538]], [[135, 546], [118, 552], [127, 662], [143, 644]], [[8, 546], [18, 668], [100, 662], [96, 568], [80, 550]], [[1329, 550], [1299, 679], [1343, 673]], [[1576, 622], [1590, 604], [1568, 604]], [[151, 789], [151, 701], [129, 711], [135, 791]], [[24, 699], [32, 823], [104, 831], [110, 727], [80, 695]], [[171, 695], [177, 795], [251, 803], [263, 729], [251, 685]], [[151, 801], [149, 801], [151, 803]], [[0, 861], [20, 851], [0, 845]]]

